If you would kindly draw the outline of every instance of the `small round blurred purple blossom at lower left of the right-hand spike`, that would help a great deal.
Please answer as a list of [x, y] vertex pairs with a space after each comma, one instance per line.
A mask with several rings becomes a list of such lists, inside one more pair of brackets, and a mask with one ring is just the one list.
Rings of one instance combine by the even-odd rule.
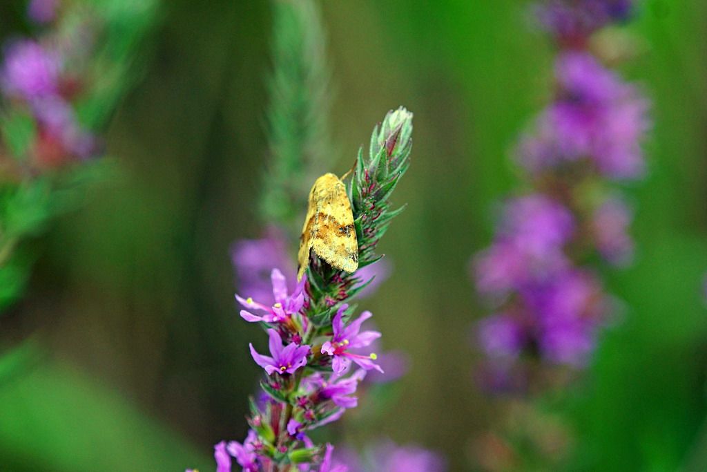
[[518, 320], [507, 314], [479, 321], [479, 342], [487, 355], [517, 357], [525, 345], [525, 333]]

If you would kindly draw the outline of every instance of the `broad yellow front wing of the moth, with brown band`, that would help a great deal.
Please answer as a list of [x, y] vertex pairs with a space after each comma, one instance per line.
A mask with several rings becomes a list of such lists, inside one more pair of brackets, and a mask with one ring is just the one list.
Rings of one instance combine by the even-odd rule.
[[312, 249], [332, 267], [356, 272], [358, 241], [346, 187], [331, 173], [322, 175], [317, 183], [313, 189], [317, 212], [314, 215]]

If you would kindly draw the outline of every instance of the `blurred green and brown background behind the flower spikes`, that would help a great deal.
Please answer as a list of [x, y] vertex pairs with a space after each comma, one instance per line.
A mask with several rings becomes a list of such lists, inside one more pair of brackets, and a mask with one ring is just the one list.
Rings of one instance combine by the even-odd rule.
[[[23, 1], [0, 5], [0, 35]], [[527, 2], [322, 1], [343, 173], [387, 110], [415, 113], [408, 209], [380, 246], [395, 272], [366, 301], [411, 370], [370, 437], [414, 442], [476, 470], [493, 402], [474, 384], [471, 328], [485, 311], [469, 257], [512, 192], [508, 151], [549, 99], [552, 48]], [[0, 318], [0, 469], [214, 468], [245, 435], [259, 372], [238, 318], [229, 246], [259, 235], [267, 159], [268, 1], [165, 2], [138, 85], [107, 132], [111, 175], [34, 241], [21, 303]], [[622, 72], [653, 100], [636, 262], [607, 273], [624, 301], [595, 362], [566, 395], [568, 470], [707, 470], [707, 3], [645, 0]]]

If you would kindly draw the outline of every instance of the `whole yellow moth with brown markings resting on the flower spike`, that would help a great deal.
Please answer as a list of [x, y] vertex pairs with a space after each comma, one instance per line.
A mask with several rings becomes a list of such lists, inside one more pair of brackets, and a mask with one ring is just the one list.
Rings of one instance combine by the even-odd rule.
[[297, 280], [309, 265], [310, 251], [327, 264], [346, 272], [358, 269], [358, 241], [346, 187], [333, 173], [315, 180], [310, 190], [307, 217], [300, 236]]

